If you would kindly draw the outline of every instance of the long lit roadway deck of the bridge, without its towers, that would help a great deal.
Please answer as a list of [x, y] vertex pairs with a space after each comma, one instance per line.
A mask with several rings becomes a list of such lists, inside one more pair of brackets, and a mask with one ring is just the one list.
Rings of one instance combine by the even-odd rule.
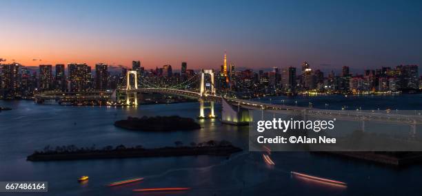
[[[126, 89], [118, 89], [119, 91], [127, 91]], [[203, 96], [199, 92], [186, 91], [179, 89], [165, 89], [165, 88], [141, 88], [130, 89], [128, 91], [137, 91], [143, 93], [157, 93], [169, 94], [174, 96], [185, 96], [190, 98], [202, 98], [203, 100], [221, 102], [221, 96], [208, 95]], [[90, 91], [83, 93], [61, 93], [61, 92], [46, 92], [38, 94], [35, 98], [51, 99], [51, 100], [110, 100], [111, 91]], [[313, 109], [308, 107], [295, 107], [288, 105], [274, 105], [269, 103], [257, 102], [253, 100], [241, 100], [237, 98], [225, 98], [227, 102], [232, 105], [237, 105], [245, 109], [260, 109], [269, 110], [274, 113], [292, 114], [297, 113], [307, 118], [321, 118], [338, 120], [352, 120], [352, 121], [375, 121], [388, 122], [389, 124], [412, 124], [414, 126], [422, 124], [422, 116], [420, 113], [414, 115], [386, 113], [381, 111], [354, 111], [354, 110], [328, 110], [328, 109]]]

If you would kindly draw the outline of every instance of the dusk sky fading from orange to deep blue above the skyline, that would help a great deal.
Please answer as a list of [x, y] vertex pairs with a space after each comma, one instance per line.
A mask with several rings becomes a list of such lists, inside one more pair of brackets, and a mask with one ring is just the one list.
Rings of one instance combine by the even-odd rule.
[[226, 50], [254, 69], [422, 65], [421, 10], [422, 1], [1, 0], [0, 58], [218, 69]]

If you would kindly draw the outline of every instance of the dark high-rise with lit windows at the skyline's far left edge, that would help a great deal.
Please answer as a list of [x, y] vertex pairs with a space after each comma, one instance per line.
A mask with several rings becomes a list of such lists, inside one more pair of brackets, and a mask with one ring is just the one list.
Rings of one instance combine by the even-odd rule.
[[19, 63], [1, 65], [1, 89], [3, 98], [20, 96]]

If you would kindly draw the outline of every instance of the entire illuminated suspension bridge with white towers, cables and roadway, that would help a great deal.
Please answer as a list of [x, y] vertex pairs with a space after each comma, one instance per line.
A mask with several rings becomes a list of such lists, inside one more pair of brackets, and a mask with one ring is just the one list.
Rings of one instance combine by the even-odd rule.
[[[132, 79], [131, 79], [132, 78]], [[207, 80], [208, 79], [208, 80]], [[132, 83], [131, 83], [132, 81]], [[188, 86], [197, 86], [186, 89]], [[352, 110], [328, 110], [314, 109], [310, 107], [297, 107], [288, 105], [276, 105], [256, 100], [242, 100], [228, 97], [219, 93], [214, 84], [214, 72], [212, 69], [203, 69], [199, 74], [188, 78], [178, 84], [152, 83], [144, 77], [137, 77], [137, 72], [129, 71], [126, 74], [126, 87], [114, 91], [88, 91], [88, 92], [43, 92], [35, 96], [37, 101], [46, 100], [55, 102], [94, 102], [103, 101], [107, 105], [138, 105], [137, 96], [142, 93], [165, 94], [183, 96], [199, 100], [199, 118], [216, 118], [214, 111], [215, 102], [223, 104], [222, 120], [227, 122], [248, 122], [252, 119], [244, 118], [248, 114], [242, 110], [265, 110], [274, 113], [299, 114], [304, 118], [336, 118], [338, 120], [359, 121], [361, 128], [365, 130], [365, 122], [381, 122], [389, 124], [409, 124], [411, 132], [416, 133], [416, 127], [422, 124], [421, 113], [394, 114], [380, 111], [352, 111]], [[208, 115], [205, 111], [209, 110]], [[229, 112], [225, 112], [228, 111]], [[227, 114], [229, 113], [229, 114]], [[231, 113], [231, 114], [230, 114]]]

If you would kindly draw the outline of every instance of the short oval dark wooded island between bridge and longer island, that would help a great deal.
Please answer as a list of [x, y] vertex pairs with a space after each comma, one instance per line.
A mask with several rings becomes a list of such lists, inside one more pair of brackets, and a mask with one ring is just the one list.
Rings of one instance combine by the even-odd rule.
[[128, 117], [126, 120], [117, 120], [114, 122], [114, 126], [135, 131], [190, 131], [201, 129], [201, 125], [192, 118], [180, 116]]

